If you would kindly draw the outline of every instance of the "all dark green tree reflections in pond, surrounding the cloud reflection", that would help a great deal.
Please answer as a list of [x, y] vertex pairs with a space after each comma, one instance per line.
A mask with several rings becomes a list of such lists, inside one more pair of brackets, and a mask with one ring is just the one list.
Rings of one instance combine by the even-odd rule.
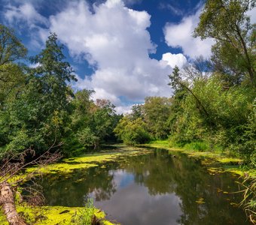
[[[132, 173], [135, 182], [147, 187], [151, 196], [175, 193], [181, 199], [180, 205], [175, 206], [181, 208], [177, 223], [246, 224], [243, 211], [233, 208], [226, 200], [229, 198], [232, 202], [235, 194], [217, 191], [234, 191], [230, 175], [209, 175], [197, 161], [183, 154], [173, 157], [164, 150], [125, 157], [118, 164], [106, 163], [104, 168], [98, 166], [68, 175], [45, 176], [41, 184], [47, 204], [81, 206], [88, 196], [94, 196], [96, 201], [110, 199], [117, 188], [114, 182], [117, 165]], [[199, 199], [204, 203], [198, 204]]]

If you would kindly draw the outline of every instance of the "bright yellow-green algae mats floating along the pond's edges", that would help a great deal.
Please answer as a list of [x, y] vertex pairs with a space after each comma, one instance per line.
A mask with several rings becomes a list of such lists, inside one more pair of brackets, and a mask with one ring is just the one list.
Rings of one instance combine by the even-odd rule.
[[[199, 151], [198, 149], [178, 148], [170, 145], [169, 140], [152, 141], [148, 144], [136, 145], [133, 147], [123, 144], [110, 145], [109, 147], [110, 148], [103, 149], [102, 151], [83, 154], [79, 157], [64, 158], [60, 162], [51, 163], [42, 167], [41, 169], [37, 170], [35, 175], [47, 173], [71, 175], [75, 169], [88, 169], [92, 166], [104, 166], [104, 163], [110, 161], [114, 162], [125, 155], [133, 156], [139, 154], [147, 154], [151, 151], [151, 148], [162, 148], [172, 152], [180, 151], [184, 154], [187, 154], [188, 157], [197, 158], [200, 160], [201, 165], [205, 167], [207, 172], [209, 172], [211, 175], [215, 175], [221, 172], [231, 172], [235, 175], [239, 175], [242, 179], [248, 179], [255, 178], [256, 174], [255, 169], [249, 169], [248, 167], [242, 166], [242, 159], [237, 157], [230, 157], [225, 152]], [[145, 147], [149, 147], [149, 149]], [[35, 169], [36, 167], [32, 166], [26, 168], [26, 172], [29, 173]], [[19, 175], [17, 175], [17, 179], [19, 178]], [[247, 201], [248, 199], [245, 200]], [[247, 213], [251, 212], [251, 208], [246, 208], [245, 204], [243, 204], [243, 206], [245, 207], [245, 210], [247, 210]], [[83, 209], [84, 214], [86, 214], [86, 211], [90, 211], [89, 208], [83, 207], [74, 208], [50, 205], [32, 207], [26, 205], [26, 203], [17, 203], [18, 213], [22, 214], [27, 223], [33, 224], [80, 224], [75, 222], [75, 219], [78, 219], [79, 213], [81, 213]], [[101, 221], [102, 224], [118, 224], [105, 220], [105, 213], [100, 209], [94, 208], [93, 206], [93, 210], [94, 211], [92, 215], [95, 216], [97, 220]], [[250, 214], [248, 214], [248, 216], [250, 216]], [[251, 220], [252, 219], [253, 217], [251, 217]], [[8, 224], [3, 214], [0, 216], [0, 222], [2, 224]]]

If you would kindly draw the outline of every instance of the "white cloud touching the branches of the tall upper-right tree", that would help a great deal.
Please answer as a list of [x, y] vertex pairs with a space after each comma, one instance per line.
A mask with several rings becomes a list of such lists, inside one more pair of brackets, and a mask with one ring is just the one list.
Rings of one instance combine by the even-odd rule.
[[211, 47], [214, 43], [212, 39], [200, 40], [200, 37], [192, 37], [194, 28], [199, 23], [200, 12], [190, 17], [184, 17], [181, 23], [167, 23], [164, 27], [164, 34], [168, 46], [181, 47], [184, 55], [195, 58], [200, 55], [209, 57], [211, 55]]

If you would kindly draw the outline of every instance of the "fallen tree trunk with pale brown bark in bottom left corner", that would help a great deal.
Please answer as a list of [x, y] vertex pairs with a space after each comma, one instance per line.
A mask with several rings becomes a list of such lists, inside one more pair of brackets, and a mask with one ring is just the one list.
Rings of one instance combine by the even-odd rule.
[[26, 225], [16, 211], [14, 193], [8, 182], [0, 184], [0, 205], [10, 225]]

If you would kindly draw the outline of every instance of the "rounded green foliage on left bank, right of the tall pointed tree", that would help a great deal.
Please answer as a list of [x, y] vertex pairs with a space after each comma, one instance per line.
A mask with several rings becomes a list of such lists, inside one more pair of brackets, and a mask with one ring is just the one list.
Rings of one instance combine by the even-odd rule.
[[101, 99], [96, 104], [90, 100], [92, 91], [82, 90], [75, 93], [72, 101], [71, 123], [64, 137], [64, 151], [75, 148], [96, 148], [102, 142], [115, 140], [114, 127], [119, 116], [110, 101]]

